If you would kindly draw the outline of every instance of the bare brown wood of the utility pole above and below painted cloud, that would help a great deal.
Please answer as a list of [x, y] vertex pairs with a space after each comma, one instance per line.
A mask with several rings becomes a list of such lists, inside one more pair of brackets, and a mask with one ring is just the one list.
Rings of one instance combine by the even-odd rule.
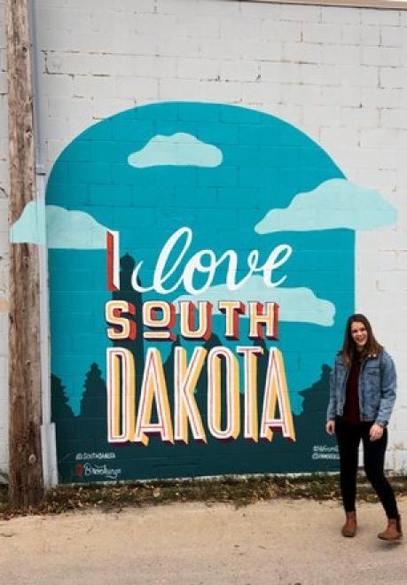
[[[6, 0], [10, 212], [12, 225], [35, 199], [35, 142], [28, 0]], [[10, 249], [10, 496], [27, 506], [43, 497], [38, 249]]]

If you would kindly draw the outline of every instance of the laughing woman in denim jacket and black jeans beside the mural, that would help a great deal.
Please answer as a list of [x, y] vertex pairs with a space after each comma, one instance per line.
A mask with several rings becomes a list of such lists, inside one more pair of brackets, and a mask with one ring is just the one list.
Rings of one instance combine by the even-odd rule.
[[364, 472], [387, 515], [386, 541], [402, 538], [395, 494], [384, 475], [387, 423], [395, 403], [395, 364], [374, 338], [364, 315], [348, 318], [343, 347], [330, 381], [326, 432], [336, 433], [340, 452], [340, 492], [346, 512], [343, 536], [356, 534], [356, 472], [359, 443], [364, 445]]

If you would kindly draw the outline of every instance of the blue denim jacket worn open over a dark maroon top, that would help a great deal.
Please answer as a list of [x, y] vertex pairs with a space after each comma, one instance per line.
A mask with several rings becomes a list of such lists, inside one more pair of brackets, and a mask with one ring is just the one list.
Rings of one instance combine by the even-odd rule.
[[[343, 415], [349, 370], [340, 353], [336, 356], [329, 383], [327, 419]], [[374, 421], [386, 426], [395, 403], [395, 364], [383, 349], [379, 355], [368, 355], [359, 374], [359, 412], [361, 421]]]

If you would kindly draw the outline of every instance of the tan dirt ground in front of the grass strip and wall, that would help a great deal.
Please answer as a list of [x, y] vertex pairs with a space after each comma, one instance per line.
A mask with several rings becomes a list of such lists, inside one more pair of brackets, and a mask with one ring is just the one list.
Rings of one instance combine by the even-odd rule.
[[354, 539], [340, 536], [342, 516], [338, 503], [277, 499], [1, 521], [0, 583], [407, 584], [405, 544], [377, 538], [380, 504], [359, 505]]

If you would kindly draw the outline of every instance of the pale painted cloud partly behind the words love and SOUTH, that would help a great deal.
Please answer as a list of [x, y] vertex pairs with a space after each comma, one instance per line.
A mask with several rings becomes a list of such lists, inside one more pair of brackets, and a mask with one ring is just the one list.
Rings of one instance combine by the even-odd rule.
[[[279, 321], [290, 321], [299, 323], [312, 323], [331, 327], [335, 316], [335, 306], [325, 299], [318, 299], [309, 288], [273, 288], [270, 290], [263, 282], [262, 277], [251, 277], [247, 284], [239, 291], [230, 291], [226, 285], [211, 286], [203, 294], [184, 294], [174, 300], [176, 311], [179, 311], [178, 301], [192, 300], [196, 304], [199, 300], [208, 300], [214, 305], [213, 312], [220, 314], [217, 303], [219, 300], [240, 300], [248, 303], [251, 300], [256, 302], [277, 302], [279, 305]], [[246, 315], [247, 316], [247, 315]]]

